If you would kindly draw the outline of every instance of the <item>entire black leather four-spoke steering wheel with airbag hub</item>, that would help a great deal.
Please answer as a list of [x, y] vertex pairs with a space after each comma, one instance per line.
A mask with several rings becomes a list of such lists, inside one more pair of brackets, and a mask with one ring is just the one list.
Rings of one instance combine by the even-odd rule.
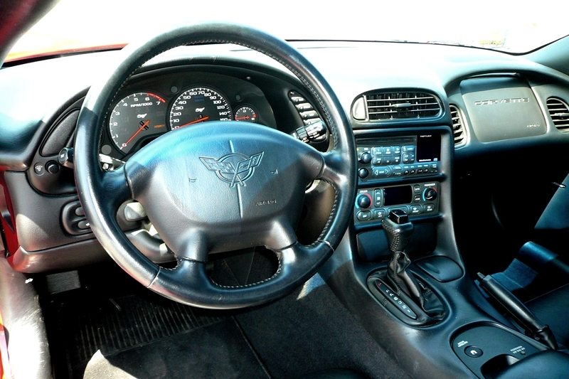
[[[166, 133], [115, 171], [98, 158], [103, 122], [118, 90], [144, 63], [171, 48], [233, 43], [282, 63], [314, 97], [334, 146], [321, 153], [269, 127], [218, 121]], [[192, 306], [230, 309], [282, 297], [314, 274], [346, 232], [356, 191], [353, 133], [339, 100], [314, 66], [288, 43], [246, 26], [182, 26], [123, 49], [112, 75], [93, 85], [78, 119], [75, 181], [92, 232], [117, 264], [164, 297]], [[334, 187], [334, 205], [311, 245], [297, 241], [307, 184]], [[139, 201], [177, 260], [154, 264], [117, 224], [119, 205]], [[206, 272], [213, 252], [264, 245], [276, 253], [277, 272], [243, 287], [223, 287]]]

